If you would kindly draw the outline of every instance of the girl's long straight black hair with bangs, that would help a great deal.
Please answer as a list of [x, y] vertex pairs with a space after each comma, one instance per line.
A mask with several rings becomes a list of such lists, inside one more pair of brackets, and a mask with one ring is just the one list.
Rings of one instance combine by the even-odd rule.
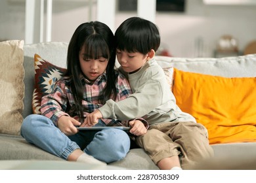
[[[84, 47], [83, 47], [84, 46]], [[108, 59], [106, 67], [106, 86], [100, 93], [100, 102], [106, 103], [110, 97], [116, 99], [116, 72], [114, 70], [116, 52], [114, 47], [114, 34], [108, 25], [102, 22], [87, 22], [79, 25], [68, 45], [67, 71], [65, 76], [71, 78], [71, 90], [74, 95], [75, 108], [79, 121], [83, 122], [83, 93], [84, 88], [81, 81], [83, 72], [79, 63], [79, 52], [82, 48], [90, 59], [98, 59], [99, 56]]]

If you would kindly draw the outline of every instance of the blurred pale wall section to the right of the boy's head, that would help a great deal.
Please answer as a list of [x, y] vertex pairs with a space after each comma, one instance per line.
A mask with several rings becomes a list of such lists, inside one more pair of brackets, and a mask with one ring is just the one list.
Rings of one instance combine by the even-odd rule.
[[203, 40], [202, 56], [213, 56], [219, 37], [232, 35], [240, 50], [256, 40], [256, 6], [203, 5], [200, 0], [189, 0], [184, 14], [158, 14], [163, 42], [173, 56], [198, 56], [196, 41]]

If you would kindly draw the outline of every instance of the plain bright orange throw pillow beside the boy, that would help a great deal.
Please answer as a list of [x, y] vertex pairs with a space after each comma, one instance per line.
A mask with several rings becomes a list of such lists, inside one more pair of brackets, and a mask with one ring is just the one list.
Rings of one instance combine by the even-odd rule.
[[256, 141], [256, 78], [224, 78], [175, 69], [173, 94], [203, 124], [210, 144]]

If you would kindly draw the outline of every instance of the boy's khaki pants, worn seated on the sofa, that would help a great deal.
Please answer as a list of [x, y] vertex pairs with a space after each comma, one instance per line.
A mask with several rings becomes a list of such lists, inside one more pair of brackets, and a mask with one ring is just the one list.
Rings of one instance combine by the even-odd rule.
[[182, 169], [190, 169], [203, 159], [213, 157], [207, 129], [194, 122], [166, 122], [152, 125], [147, 133], [136, 138], [154, 163], [179, 156]]

